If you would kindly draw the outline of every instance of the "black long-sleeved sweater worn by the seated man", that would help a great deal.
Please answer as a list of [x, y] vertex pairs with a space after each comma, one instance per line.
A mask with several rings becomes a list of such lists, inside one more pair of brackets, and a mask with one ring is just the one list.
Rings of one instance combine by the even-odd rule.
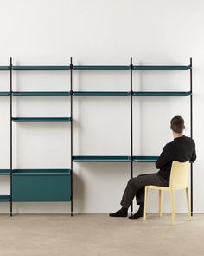
[[195, 161], [194, 140], [183, 135], [169, 142], [164, 148], [162, 154], [156, 161], [156, 168], [160, 169], [158, 174], [169, 181], [172, 161]]

